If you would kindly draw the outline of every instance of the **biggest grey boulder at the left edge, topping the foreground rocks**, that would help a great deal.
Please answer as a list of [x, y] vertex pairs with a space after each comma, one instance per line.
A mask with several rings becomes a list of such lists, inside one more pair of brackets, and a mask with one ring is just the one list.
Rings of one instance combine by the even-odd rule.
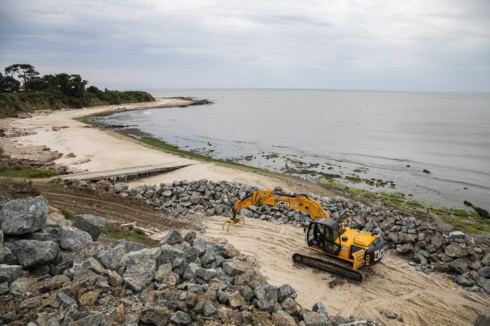
[[4, 234], [21, 235], [43, 229], [48, 219], [48, 201], [25, 197], [8, 201], [0, 210], [0, 229]]

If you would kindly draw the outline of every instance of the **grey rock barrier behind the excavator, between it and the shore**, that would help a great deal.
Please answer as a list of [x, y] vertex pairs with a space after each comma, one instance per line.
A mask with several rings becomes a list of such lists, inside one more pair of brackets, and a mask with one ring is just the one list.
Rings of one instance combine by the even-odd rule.
[[[233, 204], [258, 190], [235, 181], [176, 180], [160, 186], [144, 185], [128, 189], [124, 183], [111, 186], [102, 181], [106, 190], [121, 196], [146, 201], [155, 209], [183, 216], [203, 214], [228, 216]], [[90, 186], [81, 183], [81, 186]], [[283, 192], [281, 187], [274, 189]], [[349, 227], [383, 236], [386, 250], [409, 255], [418, 271], [440, 271], [451, 274], [451, 281], [470, 291], [490, 293], [490, 250], [475, 245], [472, 236], [463, 232], [447, 234], [440, 227], [399, 215], [393, 208], [371, 207], [342, 197], [318, 197], [318, 201], [334, 220], [349, 220]], [[280, 222], [304, 227], [307, 214], [272, 206], [251, 206], [241, 210], [246, 218]], [[193, 220], [195, 223], [196, 220]]]

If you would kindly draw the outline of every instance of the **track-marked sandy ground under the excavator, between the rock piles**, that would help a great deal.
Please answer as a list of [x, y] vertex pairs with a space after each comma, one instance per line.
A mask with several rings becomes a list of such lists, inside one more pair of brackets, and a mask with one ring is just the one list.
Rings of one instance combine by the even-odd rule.
[[[479, 312], [490, 313], [488, 295], [451, 286], [442, 274], [417, 272], [393, 255], [386, 255], [380, 264], [371, 267], [367, 279], [358, 285], [293, 264], [293, 252], [304, 247], [302, 229], [247, 219], [246, 225], [231, 227], [227, 233], [221, 229], [224, 220], [209, 218], [206, 235], [223, 237], [244, 255], [255, 258], [272, 285], [292, 285], [297, 302], [305, 308], [323, 302], [331, 316], [370, 316], [386, 325], [414, 326], [473, 325]], [[405, 321], [388, 319], [380, 311], [402, 314]]]

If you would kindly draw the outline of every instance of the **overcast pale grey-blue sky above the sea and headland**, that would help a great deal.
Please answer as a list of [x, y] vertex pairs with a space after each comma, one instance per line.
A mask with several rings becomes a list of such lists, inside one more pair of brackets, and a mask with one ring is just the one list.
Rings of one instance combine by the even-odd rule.
[[490, 0], [0, 0], [0, 69], [104, 89], [490, 92]]

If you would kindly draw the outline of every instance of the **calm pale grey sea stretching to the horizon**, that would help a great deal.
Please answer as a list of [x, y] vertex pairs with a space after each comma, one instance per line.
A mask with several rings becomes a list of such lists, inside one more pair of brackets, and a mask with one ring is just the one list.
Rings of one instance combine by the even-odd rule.
[[[179, 148], [424, 204], [490, 208], [490, 94], [146, 90], [214, 104], [104, 118]], [[425, 170], [425, 171], [424, 171]], [[314, 175], [314, 173], [319, 173]]]

